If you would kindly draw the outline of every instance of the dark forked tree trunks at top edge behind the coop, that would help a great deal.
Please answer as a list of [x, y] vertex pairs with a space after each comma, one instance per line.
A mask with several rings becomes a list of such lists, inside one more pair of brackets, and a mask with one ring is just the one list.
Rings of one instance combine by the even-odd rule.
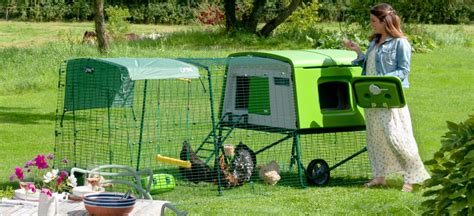
[[263, 15], [264, 6], [267, 0], [254, 0], [252, 11], [248, 16], [243, 16], [241, 20], [237, 20], [236, 16], [236, 0], [225, 0], [224, 10], [226, 19], [227, 32], [245, 31], [257, 34], [262, 37], [268, 37], [276, 27], [282, 24], [295, 11], [302, 0], [291, 0], [290, 4], [279, 11], [275, 18], [271, 19], [260, 29], [257, 30], [257, 25]]

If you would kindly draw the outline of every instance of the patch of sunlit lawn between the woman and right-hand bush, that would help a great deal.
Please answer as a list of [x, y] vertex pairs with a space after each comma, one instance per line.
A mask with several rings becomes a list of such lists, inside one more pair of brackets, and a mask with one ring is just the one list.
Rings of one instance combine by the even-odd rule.
[[446, 121], [459, 123], [474, 114], [473, 57], [472, 47], [444, 47], [412, 57], [408, 104], [425, 160], [439, 149]]

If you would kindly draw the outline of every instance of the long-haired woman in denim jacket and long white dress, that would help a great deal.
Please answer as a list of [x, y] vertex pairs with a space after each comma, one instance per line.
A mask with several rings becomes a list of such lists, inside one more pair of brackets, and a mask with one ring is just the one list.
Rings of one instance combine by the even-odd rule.
[[[388, 4], [379, 4], [370, 10], [374, 34], [370, 37], [367, 53], [349, 40], [344, 45], [357, 52], [354, 64], [362, 66], [362, 75], [396, 76], [408, 88], [411, 46], [400, 29], [400, 18]], [[430, 178], [418, 155], [408, 107], [365, 109], [367, 150], [374, 179], [366, 187], [385, 186], [385, 176], [401, 172], [404, 176], [402, 191], [411, 192], [413, 184]]]

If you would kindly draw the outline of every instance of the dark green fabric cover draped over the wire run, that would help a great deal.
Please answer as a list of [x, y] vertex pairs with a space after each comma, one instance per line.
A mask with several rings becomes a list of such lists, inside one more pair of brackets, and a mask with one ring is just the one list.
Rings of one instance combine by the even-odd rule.
[[66, 64], [64, 110], [131, 106], [134, 81], [199, 78], [197, 67], [164, 58], [80, 58]]

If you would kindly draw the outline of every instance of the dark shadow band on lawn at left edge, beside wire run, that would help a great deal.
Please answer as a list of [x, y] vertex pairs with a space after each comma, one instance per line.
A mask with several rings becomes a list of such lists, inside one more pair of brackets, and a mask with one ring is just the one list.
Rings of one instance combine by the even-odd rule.
[[[20, 110], [20, 112], [18, 112]], [[30, 108], [0, 107], [0, 124], [40, 124], [40, 121], [54, 121], [55, 113], [39, 114]], [[15, 112], [17, 111], [17, 112]]]

